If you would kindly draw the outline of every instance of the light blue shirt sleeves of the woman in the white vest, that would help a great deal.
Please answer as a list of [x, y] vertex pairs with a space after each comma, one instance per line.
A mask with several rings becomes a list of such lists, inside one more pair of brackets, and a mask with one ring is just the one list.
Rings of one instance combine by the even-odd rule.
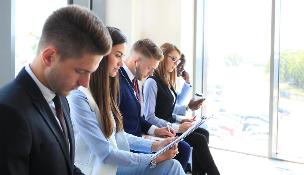
[[[91, 111], [84, 93], [79, 90], [74, 90], [67, 96], [67, 100], [70, 105], [73, 124], [100, 161], [107, 164], [129, 167], [148, 165], [150, 163], [151, 154], [127, 152], [113, 148], [110, 145], [110, 142], [105, 138], [101, 130], [95, 112]], [[114, 120], [113, 115], [112, 119]], [[115, 133], [115, 130], [113, 132]], [[127, 133], [126, 138], [129, 142], [130, 149], [151, 152], [151, 146], [154, 141]]]

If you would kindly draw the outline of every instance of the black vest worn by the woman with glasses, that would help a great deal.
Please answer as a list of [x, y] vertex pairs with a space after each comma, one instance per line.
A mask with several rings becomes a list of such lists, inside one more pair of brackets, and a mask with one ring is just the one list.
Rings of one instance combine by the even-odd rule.
[[[170, 123], [175, 122], [175, 119], [172, 119], [172, 113], [175, 106], [174, 97], [172, 96], [171, 91], [168, 86], [166, 86], [158, 75], [158, 72], [154, 70], [154, 75], [149, 76], [147, 79], [154, 79], [157, 84], [157, 94], [156, 94], [156, 105], [155, 105], [155, 116], [161, 119], [164, 119]], [[173, 87], [171, 86], [172, 91], [174, 92], [175, 99], [176, 93]], [[143, 90], [142, 90], [143, 92]], [[143, 94], [144, 96], [144, 94]]]

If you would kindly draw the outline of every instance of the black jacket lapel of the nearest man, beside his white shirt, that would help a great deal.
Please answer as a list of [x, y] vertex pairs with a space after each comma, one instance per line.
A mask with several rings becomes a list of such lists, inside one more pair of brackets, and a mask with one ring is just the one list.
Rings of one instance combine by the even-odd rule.
[[60, 147], [64, 152], [64, 156], [68, 162], [68, 165], [70, 165], [71, 168], [71, 159], [68, 153], [69, 150], [68, 150], [67, 142], [65, 140], [64, 133], [62, 132], [49, 104], [43, 97], [39, 87], [36, 85], [32, 77], [26, 72], [25, 68], [22, 68], [22, 70], [19, 72], [18, 76], [16, 77], [16, 80], [27, 91], [29, 96], [32, 98], [32, 103], [36, 106], [37, 110], [40, 112], [44, 121], [47, 123], [51, 131], [56, 136], [60, 144]]

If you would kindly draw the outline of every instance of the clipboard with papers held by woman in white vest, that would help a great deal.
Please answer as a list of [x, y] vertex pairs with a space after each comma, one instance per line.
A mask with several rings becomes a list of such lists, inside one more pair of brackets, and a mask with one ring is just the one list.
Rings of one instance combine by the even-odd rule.
[[202, 117], [201, 120], [199, 122], [196, 122], [195, 124], [193, 124], [187, 131], [185, 131], [181, 136], [179, 136], [176, 140], [174, 140], [173, 142], [169, 143], [167, 146], [165, 146], [164, 148], [160, 149], [159, 151], [157, 151], [155, 154], [153, 154], [150, 158], [150, 160], [156, 158], [157, 156], [161, 155], [161, 153], [167, 151], [167, 149], [171, 148], [175, 143], [178, 143], [179, 141], [181, 141], [183, 138], [185, 138], [187, 135], [189, 135], [190, 133], [192, 133], [196, 128], [199, 127], [199, 125], [203, 124], [205, 121], [207, 121], [208, 119], [212, 118], [212, 116], [210, 117]]

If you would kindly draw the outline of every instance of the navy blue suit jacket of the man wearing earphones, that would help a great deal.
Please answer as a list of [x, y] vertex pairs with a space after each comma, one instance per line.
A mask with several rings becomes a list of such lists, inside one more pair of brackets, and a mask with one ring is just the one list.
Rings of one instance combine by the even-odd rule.
[[[136, 79], [136, 83], [138, 81]], [[130, 85], [130, 86], [129, 86]], [[141, 137], [141, 133], [147, 134], [152, 124], [140, 116], [141, 106], [136, 100], [131, 88], [132, 81], [129, 79], [125, 69], [119, 68], [120, 104], [119, 109], [123, 115], [123, 129], [126, 133]], [[139, 86], [137, 86], [140, 92]]]

